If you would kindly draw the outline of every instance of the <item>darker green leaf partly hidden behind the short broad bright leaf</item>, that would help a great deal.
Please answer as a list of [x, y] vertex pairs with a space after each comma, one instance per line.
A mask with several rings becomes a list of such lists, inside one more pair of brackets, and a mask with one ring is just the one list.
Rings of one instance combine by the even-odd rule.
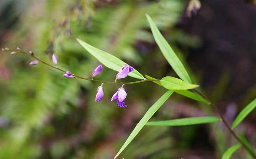
[[[156, 78], [150, 77], [147, 74], [145, 74], [145, 76], [146, 76], [147, 79], [156, 80]], [[153, 82], [163, 87], [163, 85], [161, 85], [160, 81], [153, 81]], [[208, 105], [210, 104], [206, 99], [204, 99], [202, 96], [200, 96], [197, 93], [187, 91], [187, 90], [174, 90], [174, 92], [176, 92], [178, 94], [181, 94], [182, 96], [186, 96], [188, 98], [191, 98], [193, 100], [197, 100], [197, 101], [203, 102], [203, 103], [208, 104]]]

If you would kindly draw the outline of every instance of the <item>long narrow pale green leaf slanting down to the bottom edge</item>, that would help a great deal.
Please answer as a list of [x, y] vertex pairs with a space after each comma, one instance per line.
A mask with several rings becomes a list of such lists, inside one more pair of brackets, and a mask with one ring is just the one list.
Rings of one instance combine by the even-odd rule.
[[121, 149], [119, 150], [119, 152], [117, 153], [117, 155], [115, 155], [114, 159], [117, 158], [120, 153], [126, 148], [126, 146], [128, 146], [128, 144], [130, 144], [130, 142], [134, 139], [134, 137], [139, 133], [139, 131], [143, 128], [143, 126], [145, 126], [145, 124], [148, 122], [148, 120], [154, 115], [154, 113], [156, 113], [156, 111], [161, 107], [161, 105], [163, 105], [163, 103], [171, 96], [171, 94], [173, 94], [173, 90], [169, 90], [167, 92], [165, 92], [165, 94], [163, 94], [158, 101], [156, 101], [155, 104], [153, 104], [148, 111], [145, 113], [145, 115], [141, 118], [141, 120], [139, 121], [139, 123], [135, 126], [134, 130], [132, 131], [132, 133], [129, 135], [128, 139], [124, 142], [124, 144], [122, 145]]

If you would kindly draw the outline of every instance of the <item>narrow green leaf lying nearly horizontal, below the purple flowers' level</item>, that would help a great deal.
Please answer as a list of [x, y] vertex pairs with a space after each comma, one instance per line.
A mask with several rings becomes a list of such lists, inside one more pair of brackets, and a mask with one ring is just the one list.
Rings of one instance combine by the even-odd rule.
[[190, 117], [190, 118], [180, 118], [173, 120], [163, 120], [147, 122], [147, 126], [186, 126], [195, 124], [205, 124], [219, 122], [221, 119], [213, 116], [202, 116], [202, 117]]

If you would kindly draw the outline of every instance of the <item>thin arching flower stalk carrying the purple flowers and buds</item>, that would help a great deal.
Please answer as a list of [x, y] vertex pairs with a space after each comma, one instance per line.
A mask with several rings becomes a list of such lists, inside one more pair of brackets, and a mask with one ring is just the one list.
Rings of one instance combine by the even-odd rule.
[[[5, 52], [13, 52], [13, 50], [5, 50]], [[28, 55], [28, 56], [30, 56], [30, 57], [36, 59], [37, 61], [40, 61], [41, 63], [47, 65], [48, 67], [52, 67], [52, 68], [54, 68], [54, 69], [56, 69], [56, 70], [59, 70], [59, 71], [61, 71], [61, 72], [64, 72], [64, 73], [66, 72], [65, 70], [62, 70], [62, 69], [60, 69], [60, 68], [58, 68], [58, 67], [55, 67], [55, 66], [53, 66], [53, 65], [50, 65], [50, 64], [46, 63], [45, 61], [43, 61], [43, 60], [41, 60], [41, 59], [35, 57], [35, 55], [31, 55], [31, 54], [29, 54], [29, 53], [27, 53], [27, 52], [23, 52], [23, 51], [15, 51], [15, 52]], [[77, 76], [77, 75], [75, 75], [75, 74], [72, 74], [72, 76], [75, 76], [76, 78], [80, 78], [80, 79], [83, 79], [83, 80], [88, 80], [88, 81], [95, 81], [95, 82], [109, 83], [109, 84], [125, 84], [125, 85], [136, 84], [136, 83], [142, 83], [142, 82], [147, 82], [147, 81], [161, 81], [161, 80], [149, 80], [149, 79], [145, 79], [145, 80], [134, 81], [134, 82], [119, 82], [119, 81], [116, 81], [116, 82], [115, 82], [115, 81], [95, 80], [95, 79], [90, 79], [90, 78], [85, 78], [85, 77]]]

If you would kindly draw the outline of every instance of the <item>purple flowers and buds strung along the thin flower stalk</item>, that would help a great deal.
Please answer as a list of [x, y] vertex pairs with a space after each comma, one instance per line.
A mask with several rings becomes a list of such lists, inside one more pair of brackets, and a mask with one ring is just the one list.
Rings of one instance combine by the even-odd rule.
[[[20, 51], [20, 48], [17, 48], [17, 51]], [[15, 53], [12, 53], [12, 54], [15, 54]], [[34, 55], [33, 52], [30, 51], [30, 55]], [[57, 67], [57, 63], [58, 63], [58, 59], [57, 59], [57, 55], [56, 54], [53, 54], [52, 55], [52, 62], [55, 64], [56, 68]], [[37, 65], [39, 62], [38, 61], [32, 61], [30, 63], [30, 65]], [[92, 72], [91, 74], [91, 80], [93, 80], [94, 77], [98, 76], [101, 72], [102, 72], [102, 65], [98, 65], [95, 70]], [[120, 70], [119, 72], [117, 73], [116, 75], [116, 78], [115, 78], [115, 82], [117, 80], [120, 80], [122, 78], [126, 78], [128, 76], [128, 74], [130, 72], [132, 72], [134, 70], [133, 67], [131, 66], [128, 66], [128, 65], [124, 65]], [[65, 78], [75, 78], [75, 75], [72, 74], [70, 71], [66, 71], [65, 74], [63, 74], [63, 77]], [[97, 88], [97, 93], [96, 93], [96, 96], [95, 96], [95, 102], [100, 102], [104, 96], [104, 91], [103, 91], [103, 84], [102, 83], [98, 88]], [[124, 90], [124, 85], [122, 85], [118, 90], [117, 92], [115, 92], [115, 94], [113, 94], [112, 98], [111, 98], [111, 101], [113, 101], [114, 99], [117, 100], [117, 105], [119, 107], [127, 107], [127, 105], [124, 103], [124, 100], [127, 96], [127, 93], [126, 91]]]

